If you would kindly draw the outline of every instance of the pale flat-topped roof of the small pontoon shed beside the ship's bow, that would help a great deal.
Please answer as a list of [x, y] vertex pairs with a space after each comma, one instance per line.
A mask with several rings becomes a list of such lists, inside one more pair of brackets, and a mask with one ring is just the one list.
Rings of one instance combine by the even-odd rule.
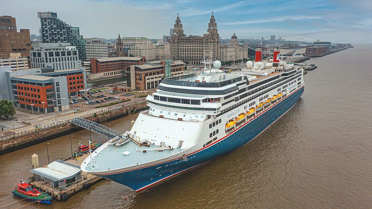
[[76, 165], [56, 160], [48, 164], [46, 167], [32, 169], [30, 172], [53, 181], [61, 181], [71, 179], [75, 175], [79, 174], [81, 169]]

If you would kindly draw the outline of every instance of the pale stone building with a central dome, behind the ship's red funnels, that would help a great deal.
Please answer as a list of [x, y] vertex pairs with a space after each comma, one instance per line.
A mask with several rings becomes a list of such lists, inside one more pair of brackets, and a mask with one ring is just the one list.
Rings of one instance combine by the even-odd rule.
[[219, 57], [224, 62], [248, 58], [248, 45], [239, 43], [238, 37], [234, 33], [228, 44], [220, 46]]

